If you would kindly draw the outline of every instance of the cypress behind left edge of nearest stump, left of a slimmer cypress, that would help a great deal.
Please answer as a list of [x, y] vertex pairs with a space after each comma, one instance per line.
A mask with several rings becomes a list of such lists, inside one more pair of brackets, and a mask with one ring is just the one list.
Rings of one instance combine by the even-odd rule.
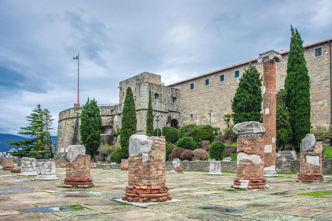
[[134, 96], [131, 88], [128, 87], [124, 98], [124, 108], [122, 111], [122, 127], [120, 130], [120, 144], [122, 155], [125, 159], [129, 156], [129, 138], [136, 134], [136, 108]]

